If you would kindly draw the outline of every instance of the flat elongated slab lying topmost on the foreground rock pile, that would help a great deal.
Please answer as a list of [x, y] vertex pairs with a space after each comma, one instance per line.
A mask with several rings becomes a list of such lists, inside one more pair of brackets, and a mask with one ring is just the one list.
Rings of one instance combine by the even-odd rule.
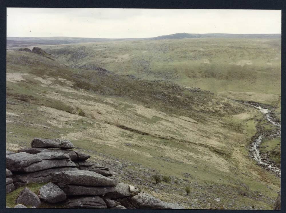
[[66, 139], [44, 139], [35, 138], [32, 140], [31, 147], [37, 148], [58, 148], [58, 149], [73, 149], [75, 146]]

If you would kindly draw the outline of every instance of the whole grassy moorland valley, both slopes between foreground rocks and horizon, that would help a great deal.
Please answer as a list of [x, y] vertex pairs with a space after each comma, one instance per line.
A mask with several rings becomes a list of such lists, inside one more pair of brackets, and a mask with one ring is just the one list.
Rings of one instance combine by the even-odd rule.
[[36, 46], [45, 53], [7, 46], [7, 150], [34, 137], [69, 139], [120, 181], [163, 201], [273, 209], [280, 177], [250, 150], [279, 167], [281, 39]]

